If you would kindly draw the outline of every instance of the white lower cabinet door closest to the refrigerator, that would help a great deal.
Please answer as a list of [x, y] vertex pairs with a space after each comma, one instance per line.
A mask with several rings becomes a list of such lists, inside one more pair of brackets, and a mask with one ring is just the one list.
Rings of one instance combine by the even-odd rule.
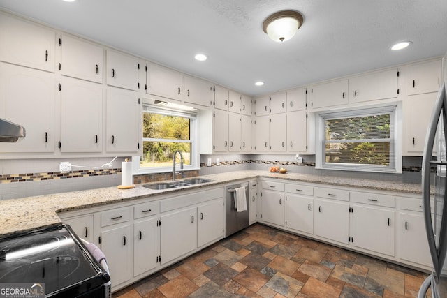
[[423, 214], [400, 213], [399, 217], [400, 258], [431, 267]]

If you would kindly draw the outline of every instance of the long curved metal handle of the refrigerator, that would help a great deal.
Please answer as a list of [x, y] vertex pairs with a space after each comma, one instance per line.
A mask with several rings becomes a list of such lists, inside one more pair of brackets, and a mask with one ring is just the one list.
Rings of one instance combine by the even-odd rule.
[[[430, 207], [430, 161], [432, 159], [434, 138], [437, 131], [437, 125], [439, 122], [439, 118], [441, 114], [443, 115], [444, 124], [447, 123], [446, 117], [446, 107], [447, 107], [447, 98], [446, 98], [446, 89], [445, 84], [443, 83], [441, 89], [439, 90], [438, 98], [434, 105], [434, 109], [432, 111], [432, 116], [430, 117], [430, 123], [427, 128], [427, 137], [425, 138], [425, 146], [424, 146], [424, 155], [422, 162], [422, 198], [423, 198], [423, 213], [424, 213], [424, 221], [425, 221], [425, 231], [427, 233], [428, 246], [430, 248], [430, 255], [432, 256], [434, 272], [437, 276], [440, 276], [442, 265], [444, 264], [444, 260], [446, 257], [446, 235], [442, 234], [444, 229], [446, 228], [447, 218], [444, 218], [441, 226], [441, 238], [439, 239], [439, 250], [436, 246], [436, 241], [434, 239], [433, 232], [433, 224], [432, 224], [432, 210]], [[444, 110], [444, 113], [442, 111]], [[447, 128], [447, 126], [446, 126]], [[444, 130], [444, 134], [446, 134], [446, 130]], [[447, 139], [446, 139], [447, 140]], [[446, 192], [444, 192], [446, 193]], [[444, 212], [446, 213], [446, 208]]]

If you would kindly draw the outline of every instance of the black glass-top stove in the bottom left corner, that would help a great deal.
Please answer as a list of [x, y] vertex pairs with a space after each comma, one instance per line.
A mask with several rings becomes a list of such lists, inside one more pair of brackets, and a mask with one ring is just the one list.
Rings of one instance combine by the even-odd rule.
[[0, 239], [0, 284], [45, 286], [45, 297], [110, 297], [110, 276], [68, 225]]

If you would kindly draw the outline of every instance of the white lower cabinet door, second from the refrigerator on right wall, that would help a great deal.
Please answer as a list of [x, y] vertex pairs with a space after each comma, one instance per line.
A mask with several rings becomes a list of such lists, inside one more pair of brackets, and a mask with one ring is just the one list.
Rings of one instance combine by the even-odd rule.
[[354, 205], [351, 225], [353, 246], [394, 256], [394, 218], [394, 211]]

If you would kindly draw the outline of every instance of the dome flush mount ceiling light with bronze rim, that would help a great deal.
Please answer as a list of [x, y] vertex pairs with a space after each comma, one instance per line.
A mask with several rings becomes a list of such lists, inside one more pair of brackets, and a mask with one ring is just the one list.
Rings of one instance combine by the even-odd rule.
[[291, 39], [302, 25], [302, 15], [295, 10], [282, 10], [263, 22], [263, 30], [277, 43]]

